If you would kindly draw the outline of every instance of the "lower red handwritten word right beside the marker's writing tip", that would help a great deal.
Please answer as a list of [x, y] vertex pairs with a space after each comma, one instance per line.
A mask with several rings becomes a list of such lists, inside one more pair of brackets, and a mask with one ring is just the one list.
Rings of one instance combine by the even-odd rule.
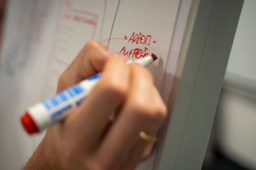
[[148, 48], [145, 47], [144, 49], [134, 48], [132, 50], [126, 50], [124, 46], [119, 53], [125, 55], [126, 57], [135, 57], [136, 59], [140, 59], [141, 57], [145, 57], [148, 55]]

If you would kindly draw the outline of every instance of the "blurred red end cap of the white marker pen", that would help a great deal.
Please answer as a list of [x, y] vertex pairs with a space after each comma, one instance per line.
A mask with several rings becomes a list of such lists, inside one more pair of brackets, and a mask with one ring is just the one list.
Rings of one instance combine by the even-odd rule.
[[21, 124], [28, 134], [33, 134], [34, 132], [39, 132], [38, 127], [36, 126], [33, 118], [29, 115], [28, 111], [20, 117]]

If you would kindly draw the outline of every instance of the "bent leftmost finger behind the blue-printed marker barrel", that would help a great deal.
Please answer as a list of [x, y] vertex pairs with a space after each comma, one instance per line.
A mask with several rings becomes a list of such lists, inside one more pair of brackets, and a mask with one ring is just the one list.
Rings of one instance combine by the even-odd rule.
[[61, 74], [57, 92], [67, 89], [79, 81], [102, 71], [106, 60], [111, 56], [111, 53], [108, 53], [107, 46], [102, 45], [98, 41], [88, 41], [76, 59]]

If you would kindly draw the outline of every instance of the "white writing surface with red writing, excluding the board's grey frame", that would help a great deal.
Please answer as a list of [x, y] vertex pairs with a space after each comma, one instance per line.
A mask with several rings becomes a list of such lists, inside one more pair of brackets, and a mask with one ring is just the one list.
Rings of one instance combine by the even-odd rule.
[[[28, 137], [19, 116], [55, 94], [60, 74], [90, 39], [131, 60], [156, 53], [159, 60], [148, 69], [167, 103], [173, 76], [166, 78], [166, 71], [174, 75], [179, 58], [177, 47], [170, 55], [179, 8], [180, 0], [9, 1], [0, 71], [3, 169], [22, 166], [44, 136]], [[188, 12], [182, 30], [187, 17]], [[151, 169], [153, 163], [154, 155], [138, 169]]]

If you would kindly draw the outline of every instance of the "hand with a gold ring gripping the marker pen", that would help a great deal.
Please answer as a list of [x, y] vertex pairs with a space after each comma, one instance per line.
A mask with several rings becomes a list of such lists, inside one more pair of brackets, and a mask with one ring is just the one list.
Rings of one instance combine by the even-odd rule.
[[27, 169], [40, 154], [45, 169], [134, 169], [148, 157], [154, 143], [140, 132], [156, 136], [166, 106], [147, 69], [89, 41], [61, 74], [57, 92], [102, 70], [86, 100], [47, 129]]

